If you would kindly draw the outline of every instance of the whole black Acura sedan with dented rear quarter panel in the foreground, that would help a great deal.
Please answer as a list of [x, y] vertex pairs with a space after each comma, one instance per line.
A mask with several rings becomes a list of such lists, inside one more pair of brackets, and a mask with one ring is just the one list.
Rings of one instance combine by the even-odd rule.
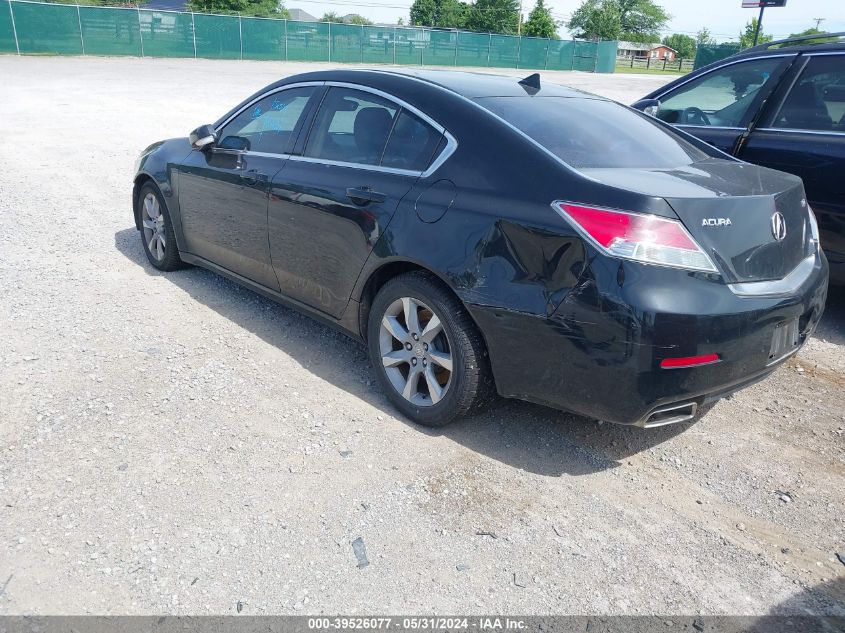
[[794, 354], [827, 293], [800, 179], [537, 75], [289, 77], [147, 148], [133, 199], [153, 266], [365, 341], [431, 426], [495, 392], [692, 419]]

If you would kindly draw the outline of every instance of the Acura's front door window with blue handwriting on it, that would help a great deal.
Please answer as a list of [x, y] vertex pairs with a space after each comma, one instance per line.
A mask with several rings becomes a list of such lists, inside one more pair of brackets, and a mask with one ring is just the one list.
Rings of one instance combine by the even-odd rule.
[[302, 119], [312, 87], [291, 88], [268, 95], [232, 119], [220, 131], [218, 147], [285, 154]]

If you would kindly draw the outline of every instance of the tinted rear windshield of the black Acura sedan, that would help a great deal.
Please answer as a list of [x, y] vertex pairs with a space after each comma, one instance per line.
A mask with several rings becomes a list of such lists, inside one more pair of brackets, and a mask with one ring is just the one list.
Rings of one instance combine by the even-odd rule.
[[707, 158], [648, 117], [612, 101], [528, 96], [477, 101], [576, 169], [660, 169]]

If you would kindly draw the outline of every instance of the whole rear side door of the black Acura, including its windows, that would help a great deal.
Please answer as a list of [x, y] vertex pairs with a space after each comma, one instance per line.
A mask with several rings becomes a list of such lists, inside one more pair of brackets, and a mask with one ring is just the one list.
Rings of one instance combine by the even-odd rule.
[[302, 155], [273, 178], [270, 253], [283, 294], [339, 317], [443, 129], [364, 87], [330, 85]]

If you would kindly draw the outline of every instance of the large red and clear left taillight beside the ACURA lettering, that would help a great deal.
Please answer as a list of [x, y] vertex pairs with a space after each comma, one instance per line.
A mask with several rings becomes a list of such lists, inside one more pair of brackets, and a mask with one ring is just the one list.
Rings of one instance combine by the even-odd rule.
[[612, 257], [716, 272], [707, 253], [677, 220], [567, 202], [555, 202], [552, 206]]

